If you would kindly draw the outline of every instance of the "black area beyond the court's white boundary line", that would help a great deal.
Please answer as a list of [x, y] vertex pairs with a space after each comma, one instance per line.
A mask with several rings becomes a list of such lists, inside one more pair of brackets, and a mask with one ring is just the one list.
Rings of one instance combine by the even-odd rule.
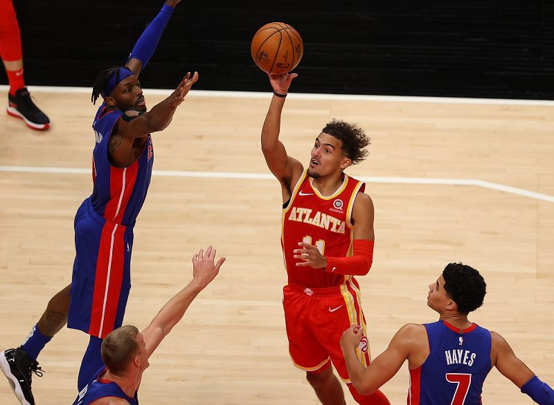
[[[14, 4], [27, 84], [90, 86], [162, 2]], [[168, 89], [197, 70], [195, 89], [267, 91], [250, 42], [271, 21], [303, 37], [296, 92], [554, 99], [554, 0], [185, 0], [141, 82]]]

